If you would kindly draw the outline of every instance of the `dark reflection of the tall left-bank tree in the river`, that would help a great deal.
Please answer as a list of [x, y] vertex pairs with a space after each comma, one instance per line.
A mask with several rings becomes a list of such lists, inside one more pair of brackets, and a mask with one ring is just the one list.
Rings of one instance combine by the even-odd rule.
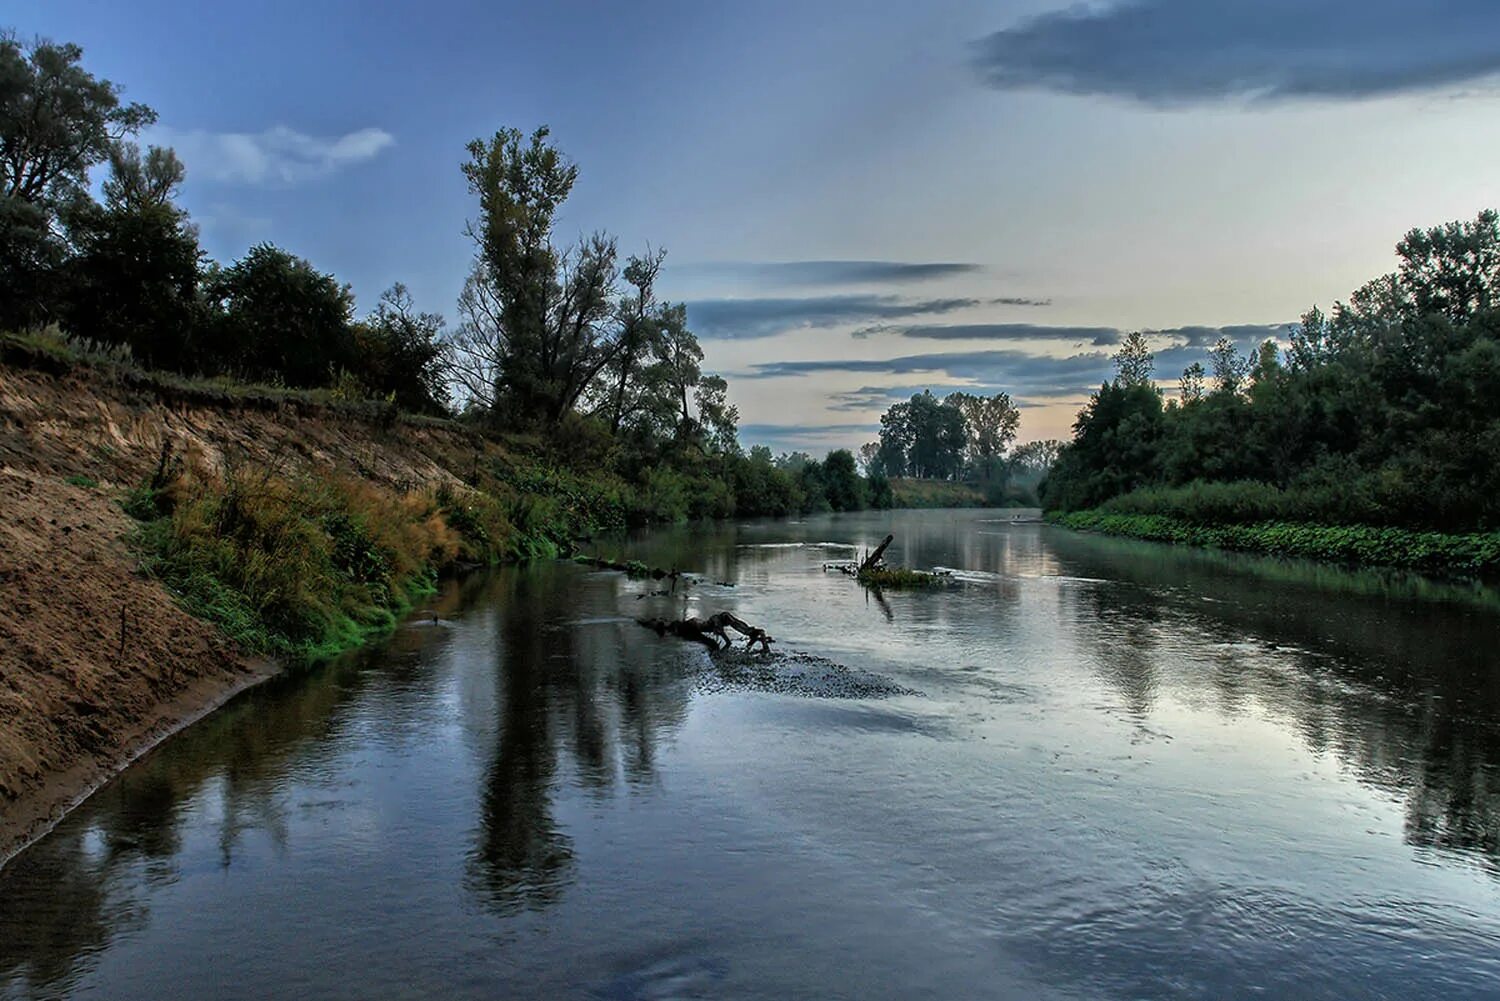
[[[498, 720], [480, 795], [471, 887], [492, 906], [546, 906], [572, 876], [573, 849], [552, 815], [568, 764], [574, 780], [606, 795], [622, 771], [650, 782], [656, 744], [686, 713], [675, 659], [633, 623], [579, 623], [579, 576], [556, 566], [506, 576], [498, 597]], [[615, 609], [616, 579], [603, 605]], [[562, 750], [570, 761], [561, 759]]]

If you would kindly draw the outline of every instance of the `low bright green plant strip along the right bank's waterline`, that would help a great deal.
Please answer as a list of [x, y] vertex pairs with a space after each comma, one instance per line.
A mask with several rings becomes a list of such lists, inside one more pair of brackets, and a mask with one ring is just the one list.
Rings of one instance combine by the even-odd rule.
[[1317, 525], [1286, 521], [1208, 525], [1168, 515], [1130, 515], [1106, 510], [1050, 513], [1047, 518], [1065, 528], [1148, 542], [1396, 567], [1437, 575], [1500, 576], [1500, 531], [1449, 534], [1410, 528]]

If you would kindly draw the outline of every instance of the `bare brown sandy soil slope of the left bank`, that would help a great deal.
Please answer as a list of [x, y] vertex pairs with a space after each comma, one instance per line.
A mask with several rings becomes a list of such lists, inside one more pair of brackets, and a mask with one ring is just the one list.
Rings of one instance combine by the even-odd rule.
[[483, 449], [357, 408], [0, 363], [0, 861], [273, 671], [136, 573], [118, 498], [164, 440], [208, 467], [312, 467], [398, 488], [453, 480]]

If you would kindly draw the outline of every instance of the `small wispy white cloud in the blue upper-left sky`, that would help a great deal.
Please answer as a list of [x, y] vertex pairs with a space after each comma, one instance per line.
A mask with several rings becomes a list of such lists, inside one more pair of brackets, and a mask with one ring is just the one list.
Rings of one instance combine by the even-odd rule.
[[202, 132], [159, 128], [152, 141], [171, 146], [189, 177], [226, 185], [297, 185], [378, 156], [396, 143], [384, 129], [316, 137], [285, 125], [264, 132]]

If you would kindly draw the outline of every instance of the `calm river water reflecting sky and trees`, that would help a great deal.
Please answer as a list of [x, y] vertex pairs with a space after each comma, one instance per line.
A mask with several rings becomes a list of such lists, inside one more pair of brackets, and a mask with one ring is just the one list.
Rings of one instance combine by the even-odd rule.
[[[886, 531], [952, 584], [824, 570]], [[704, 579], [471, 576], [180, 734], [0, 870], [0, 998], [1500, 996], [1494, 594], [1006, 512], [596, 548]], [[634, 621], [718, 609], [780, 656]]]

